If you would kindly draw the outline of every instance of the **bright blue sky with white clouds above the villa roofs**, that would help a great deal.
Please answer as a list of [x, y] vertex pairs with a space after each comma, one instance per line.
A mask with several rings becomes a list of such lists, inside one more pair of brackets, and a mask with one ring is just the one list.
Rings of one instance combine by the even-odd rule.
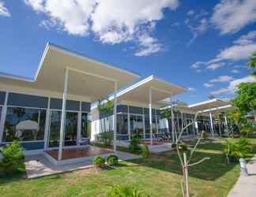
[[232, 98], [255, 81], [255, 0], [0, 0], [0, 72], [33, 77], [47, 42], [189, 91]]

